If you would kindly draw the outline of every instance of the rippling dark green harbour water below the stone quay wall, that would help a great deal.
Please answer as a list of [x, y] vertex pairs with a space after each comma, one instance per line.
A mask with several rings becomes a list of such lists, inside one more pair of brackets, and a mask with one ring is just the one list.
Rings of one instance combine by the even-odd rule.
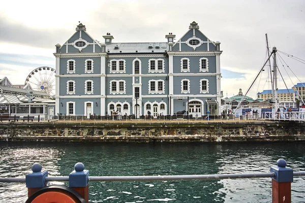
[[[24, 178], [35, 162], [49, 176], [68, 176], [77, 162], [90, 176], [259, 173], [278, 158], [305, 171], [305, 143], [0, 143], [0, 149], [1, 177]], [[294, 178], [292, 202], [305, 202], [304, 185], [304, 177]], [[89, 193], [90, 202], [271, 202], [271, 179], [90, 182]], [[24, 183], [0, 183], [0, 202], [25, 202], [26, 195]]]

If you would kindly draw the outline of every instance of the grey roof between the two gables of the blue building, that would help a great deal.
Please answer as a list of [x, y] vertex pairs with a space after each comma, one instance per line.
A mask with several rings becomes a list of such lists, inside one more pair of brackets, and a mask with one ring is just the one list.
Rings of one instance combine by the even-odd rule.
[[[151, 46], [151, 48], [149, 47]], [[158, 48], [159, 47], [159, 48]], [[117, 48], [117, 49], [116, 49]], [[112, 43], [106, 45], [107, 53], [166, 53], [167, 43]]]

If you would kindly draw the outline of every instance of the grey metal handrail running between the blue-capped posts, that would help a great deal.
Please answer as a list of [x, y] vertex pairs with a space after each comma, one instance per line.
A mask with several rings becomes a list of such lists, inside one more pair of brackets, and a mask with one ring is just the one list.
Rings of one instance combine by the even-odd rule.
[[[210, 175], [177, 175], [177, 176], [89, 176], [89, 181], [173, 181], [173, 180], [219, 180], [241, 178], [275, 178], [275, 173], [252, 174], [210, 174]], [[305, 176], [305, 171], [293, 172], [293, 176]], [[46, 177], [46, 182], [69, 181], [69, 176]], [[25, 178], [0, 178], [3, 183], [25, 183]]]

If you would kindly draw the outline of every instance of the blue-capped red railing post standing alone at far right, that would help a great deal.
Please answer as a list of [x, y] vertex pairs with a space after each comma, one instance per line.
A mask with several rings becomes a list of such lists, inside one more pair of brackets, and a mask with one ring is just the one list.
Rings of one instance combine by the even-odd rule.
[[275, 173], [275, 177], [272, 178], [272, 203], [291, 203], [293, 170], [286, 166], [286, 160], [280, 158], [277, 161], [277, 166], [270, 168], [270, 172]]

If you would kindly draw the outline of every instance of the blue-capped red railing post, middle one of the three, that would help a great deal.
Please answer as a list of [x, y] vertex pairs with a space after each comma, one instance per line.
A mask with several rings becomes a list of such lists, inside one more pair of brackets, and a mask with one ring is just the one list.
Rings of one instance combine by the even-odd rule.
[[89, 201], [89, 171], [84, 170], [82, 163], [74, 166], [74, 171], [69, 175], [69, 187], [76, 190], [88, 203]]

